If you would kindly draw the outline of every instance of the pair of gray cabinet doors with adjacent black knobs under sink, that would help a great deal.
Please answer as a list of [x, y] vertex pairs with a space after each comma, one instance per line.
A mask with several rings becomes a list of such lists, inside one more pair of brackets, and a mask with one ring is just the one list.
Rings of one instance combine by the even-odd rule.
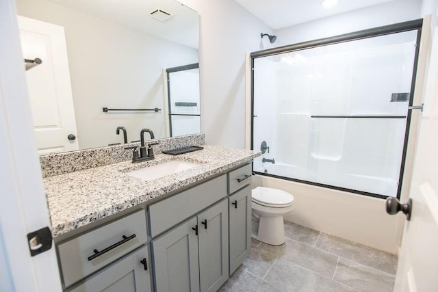
[[217, 291], [228, 279], [227, 200], [151, 241], [156, 291]]

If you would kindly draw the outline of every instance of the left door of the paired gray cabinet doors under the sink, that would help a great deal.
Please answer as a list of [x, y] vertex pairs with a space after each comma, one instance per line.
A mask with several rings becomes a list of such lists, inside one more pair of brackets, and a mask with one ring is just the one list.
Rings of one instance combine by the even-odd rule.
[[192, 217], [151, 241], [156, 291], [199, 291], [195, 226], [196, 217]]

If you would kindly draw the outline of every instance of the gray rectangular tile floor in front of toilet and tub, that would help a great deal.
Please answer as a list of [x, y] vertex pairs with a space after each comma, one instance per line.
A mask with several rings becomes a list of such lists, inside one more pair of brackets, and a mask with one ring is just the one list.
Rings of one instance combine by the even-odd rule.
[[285, 222], [286, 242], [252, 239], [220, 291], [393, 291], [397, 256]]

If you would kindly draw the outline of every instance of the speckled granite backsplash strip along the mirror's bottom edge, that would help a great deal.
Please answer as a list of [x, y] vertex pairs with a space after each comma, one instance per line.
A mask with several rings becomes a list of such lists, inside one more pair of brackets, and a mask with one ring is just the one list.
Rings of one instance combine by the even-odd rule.
[[[151, 142], [151, 140], [146, 141]], [[205, 144], [205, 135], [185, 135], [172, 138], [155, 139], [158, 142], [154, 145], [155, 154], [164, 150], [180, 148], [183, 146], [198, 146]], [[118, 163], [132, 159], [132, 150], [125, 150], [129, 146], [139, 146], [140, 143], [122, 144], [116, 146], [106, 146], [101, 148], [91, 148], [73, 152], [63, 152], [40, 157], [42, 177], [55, 176], [86, 170], [88, 168], [97, 168], [99, 166]]]

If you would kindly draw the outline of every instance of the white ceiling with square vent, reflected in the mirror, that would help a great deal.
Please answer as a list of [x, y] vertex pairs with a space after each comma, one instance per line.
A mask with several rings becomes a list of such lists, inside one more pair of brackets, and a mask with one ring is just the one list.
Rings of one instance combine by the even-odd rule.
[[[198, 13], [175, 0], [50, 0], [68, 8], [198, 49]], [[157, 8], [172, 14], [161, 22]]]

